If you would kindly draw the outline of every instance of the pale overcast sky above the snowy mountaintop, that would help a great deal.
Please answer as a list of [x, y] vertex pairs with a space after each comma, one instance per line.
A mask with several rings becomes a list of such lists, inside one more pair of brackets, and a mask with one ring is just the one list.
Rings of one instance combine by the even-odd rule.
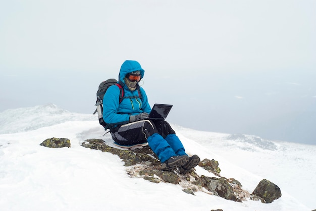
[[130, 59], [170, 123], [316, 143], [316, 1], [0, 3], [0, 112], [92, 113]]

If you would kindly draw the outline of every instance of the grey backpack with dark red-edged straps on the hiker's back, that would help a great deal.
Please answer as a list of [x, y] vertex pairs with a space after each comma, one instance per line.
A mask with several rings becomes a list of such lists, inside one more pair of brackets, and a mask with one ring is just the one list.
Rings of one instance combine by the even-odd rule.
[[[96, 109], [93, 112], [93, 114], [97, 112], [99, 123], [100, 125], [104, 127], [105, 130], [111, 128], [111, 125], [107, 124], [103, 120], [103, 100], [106, 100], [106, 99], [103, 99], [103, 97], [104, 97], [104, 94], [106, 94], [109, 87], [113, 85], [118, 86], [120, 89], [119, 103], [121, 103], [124, 98], [137, 98], [138, 97], [138, 96], [124, 97], [124, 89], [122, 85], [118, 83], [116, 79], [108, 79], [106, 81], [101, 82], [99, 85], [99, 89], [96, 92], [96, 102], [95, 102]], [[141, 93], [139, 91], [139, 87], [137, 87], [137, 91], [138, 91], [139, 98], [141, 99]]]

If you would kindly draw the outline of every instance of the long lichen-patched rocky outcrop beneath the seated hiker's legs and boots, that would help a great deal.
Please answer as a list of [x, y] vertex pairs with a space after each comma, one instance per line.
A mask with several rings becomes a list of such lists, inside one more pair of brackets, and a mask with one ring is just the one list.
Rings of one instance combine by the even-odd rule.
[[143, 178], [153, 183], [167, 182], [178, 184], [183, 188], [184, 192], [193, 195], [194, 192], [202, 191], [210, 195], [217, 195], [239, 202], [249, 198], [260, 200], [259, 196], [250, 195], [248, 191], [243, 190], [242, 185], [236, 179], [226, 179], [220, 176], [219, 163], [214, 159], [204, 159], [198, 165], [219, 178], [199, 176], [194, 170], [184, 174], [180, 174], [179, 170], [162, 171], [161, 162], [149, 146], [131, 150], [118, 149], [108, 146], [102, 139], [87, 139], [82, 143], [82, 146], [118, 155], [124, 161], [124, 165], [127, 166], [126, 171], [131, 177]]

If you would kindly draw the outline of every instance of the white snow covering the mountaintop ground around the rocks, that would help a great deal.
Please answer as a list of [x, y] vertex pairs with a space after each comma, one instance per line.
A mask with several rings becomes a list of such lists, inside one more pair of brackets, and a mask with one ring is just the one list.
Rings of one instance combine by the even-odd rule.
[[[17, 115], [19, 114], [19, 115]], [[316, 208], [316, 146], [172, 125], [189, 154], [219, 161], [221, 175], [252, 192], [262, 179], [277, 184], [270, 204], [235, 202], [179, 185], [131, 178], [118, 156], [81, 147], [87, 138], [112, 143], [92, 114], [55, 105], [0, 113], [1, 210], [311, 210]], [[50, 149], [46, 138], [65, 137], [71, 148]], [[199, 175], [212, 176], [196, 167]]]

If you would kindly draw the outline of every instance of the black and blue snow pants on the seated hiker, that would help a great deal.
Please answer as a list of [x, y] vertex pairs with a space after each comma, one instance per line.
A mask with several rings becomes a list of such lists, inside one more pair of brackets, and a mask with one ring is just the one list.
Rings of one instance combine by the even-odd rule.
[[115, 142], [134, 145], [148, 142], [151, 150], [163, 163], [173, 156], [187, 155], [170, 124], [165, 120], [141, 120], [119, 125], [110, 130]]

